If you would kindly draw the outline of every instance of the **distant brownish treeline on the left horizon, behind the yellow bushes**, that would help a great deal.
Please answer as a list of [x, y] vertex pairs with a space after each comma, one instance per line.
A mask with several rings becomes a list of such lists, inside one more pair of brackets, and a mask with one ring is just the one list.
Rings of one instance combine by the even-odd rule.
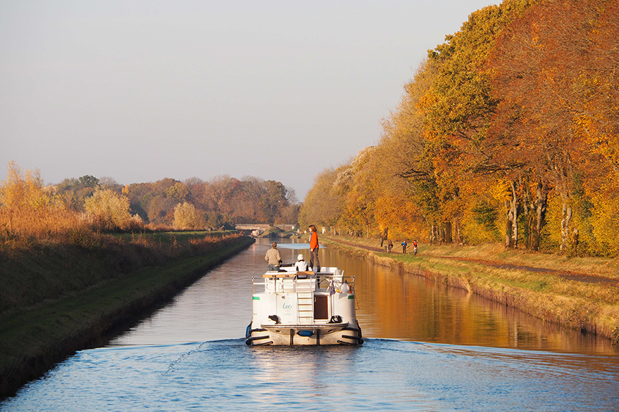
[[[145, 224], [175, 224], [175, 213], [185, 205], [193, 207], [199, 217], [197, 226], [228, 228], [238, 223], [296, 223], [298, 205], [294, 190], [279, 181], [264, 181], [252, 176], [241, 180], [218, 176], [209, 181], [192, 177], [185, 181], [161, 179], [154, 183], [120, 186], [110, 179], [82, 176], [65, 179], [54, 192], [82, 210], [85, 200], [100, 188], [125, 195], [130, 212]], [[178, 216], [177, 216], [178, 217]]]

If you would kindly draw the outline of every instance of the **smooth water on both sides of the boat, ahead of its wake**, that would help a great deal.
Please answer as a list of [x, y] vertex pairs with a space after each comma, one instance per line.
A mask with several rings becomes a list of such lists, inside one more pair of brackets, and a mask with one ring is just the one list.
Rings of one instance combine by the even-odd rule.
[[[285, 263], [308, 253], [304, 239], [279, 240]], [[252, 276], [266, 269], [272, 240], [210, 271], [168, 307], [111, 345], [154, 345], [244, 336], [251, 319]], [[365, 337], [576, 353], [613, 354], [610, 340], [561, 328], [522, 311], [410, 273], [320, 248], [323, 266], [356, 276], [357, 318]]]

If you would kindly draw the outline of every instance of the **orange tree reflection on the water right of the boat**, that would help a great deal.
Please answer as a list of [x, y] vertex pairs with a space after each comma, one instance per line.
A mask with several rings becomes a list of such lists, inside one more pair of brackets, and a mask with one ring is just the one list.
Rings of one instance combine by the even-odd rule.
[[544, 322], [523, 311], [465, 290], [321, 250], [355, 274], [357, 318], [363, 335], [397, 340], [539, 349], [578, 353], [619, 353], [610, 340]]

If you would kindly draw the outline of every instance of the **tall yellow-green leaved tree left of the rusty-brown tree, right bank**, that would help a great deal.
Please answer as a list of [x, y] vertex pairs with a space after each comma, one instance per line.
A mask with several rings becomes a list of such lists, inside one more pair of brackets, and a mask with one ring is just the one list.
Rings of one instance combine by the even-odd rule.
[[[433, 152], [439, 198], [445, 224], [461, 224], [465, 205], [463, 185], [475, 184], [484, 174], [500, 173], [506, 177], [518, 168], [496, 157], [496, 148], [504, 141], [488, 139], [487, 131], [499, 103], [492, 93], [492, 72], [484, 70], [494, 41], [504, 27], [521, 13], [529, 1], [504, 1], [471, 13], [461, 31], [446, 37], [428, 58], [437, 67], [432, 86], [420, 100], [425, 115], [427, 146]], [[518, 242], [518, 191], [510, 179], [511, 201], [508, 216], [508, 245]], [[476, 185], [476, 184], [475, 184]]]

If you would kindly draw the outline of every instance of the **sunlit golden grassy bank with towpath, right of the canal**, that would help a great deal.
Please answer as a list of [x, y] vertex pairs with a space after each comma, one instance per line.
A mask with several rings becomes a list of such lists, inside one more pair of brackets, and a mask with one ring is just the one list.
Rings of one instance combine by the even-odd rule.
[[501, 245], [420, 245], [384, 253], [380, 240], [322, 236], [321, 242], [385, 266], [425, 276], [518, 308], [537, 318], [619, 343], [619, 265], [615, 259], [573, 258]]

